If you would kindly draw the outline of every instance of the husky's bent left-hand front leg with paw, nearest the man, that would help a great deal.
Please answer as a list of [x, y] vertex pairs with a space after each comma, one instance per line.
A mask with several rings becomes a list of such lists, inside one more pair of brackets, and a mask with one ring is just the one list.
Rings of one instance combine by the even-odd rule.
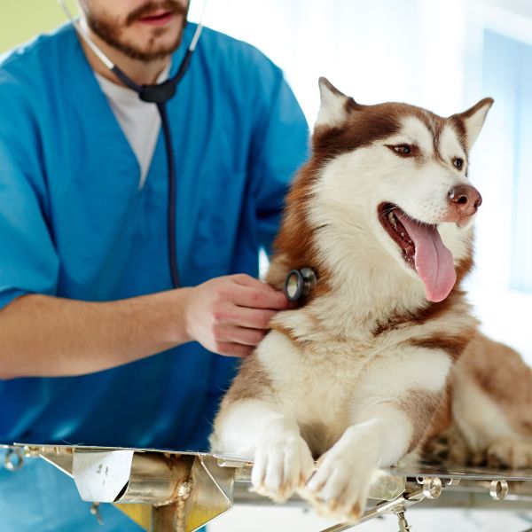
[[211, 436], [215, 452], [254, 460], [254, 491], [283, 502], [309, 479], [314, 459], [288, 413], [260, 399], [243, 399], [222, 410]]

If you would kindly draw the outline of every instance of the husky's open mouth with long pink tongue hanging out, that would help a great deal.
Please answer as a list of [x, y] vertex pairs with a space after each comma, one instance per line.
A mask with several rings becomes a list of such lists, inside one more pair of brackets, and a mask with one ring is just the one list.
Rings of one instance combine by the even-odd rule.
[[457, 274], [450, 250], [443, 245], [436, 225], [419, 222], [393, 203], [377, 208], [379, 222], [403, 252], [404, 261], [418, 272], [428, 301], [442, 301], [452, 290]]

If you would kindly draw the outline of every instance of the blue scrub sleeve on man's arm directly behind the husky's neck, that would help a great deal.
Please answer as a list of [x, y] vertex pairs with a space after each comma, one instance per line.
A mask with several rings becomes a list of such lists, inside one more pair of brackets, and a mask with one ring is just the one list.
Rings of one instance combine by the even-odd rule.
[[254, 143], [254, 202], [261, 245], [268, 254], [275, 239], [286, 192], [309, 154], [309, 126], [282, 73], [272, 84], [270, 107]]

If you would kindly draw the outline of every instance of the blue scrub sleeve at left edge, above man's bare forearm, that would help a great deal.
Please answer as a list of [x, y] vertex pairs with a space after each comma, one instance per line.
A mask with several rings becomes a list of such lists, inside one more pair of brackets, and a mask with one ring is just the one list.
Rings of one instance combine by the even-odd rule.
[[36, 134], [7, 106], [13, 102], [0, 102], [0, 309], [24, 293], [55, 293], [59, 275], [43, 188], [32, 184], [43, 182]]

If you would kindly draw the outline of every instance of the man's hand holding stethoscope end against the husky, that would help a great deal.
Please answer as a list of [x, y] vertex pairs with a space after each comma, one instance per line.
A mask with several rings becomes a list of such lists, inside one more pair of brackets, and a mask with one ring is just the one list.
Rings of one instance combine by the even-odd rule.
[[270, 319], [290, 308], [285, 294], [245, 274], [211, 279], [188, 293], [185, 327], [191, 340], [226, 356], [247, 356]]

